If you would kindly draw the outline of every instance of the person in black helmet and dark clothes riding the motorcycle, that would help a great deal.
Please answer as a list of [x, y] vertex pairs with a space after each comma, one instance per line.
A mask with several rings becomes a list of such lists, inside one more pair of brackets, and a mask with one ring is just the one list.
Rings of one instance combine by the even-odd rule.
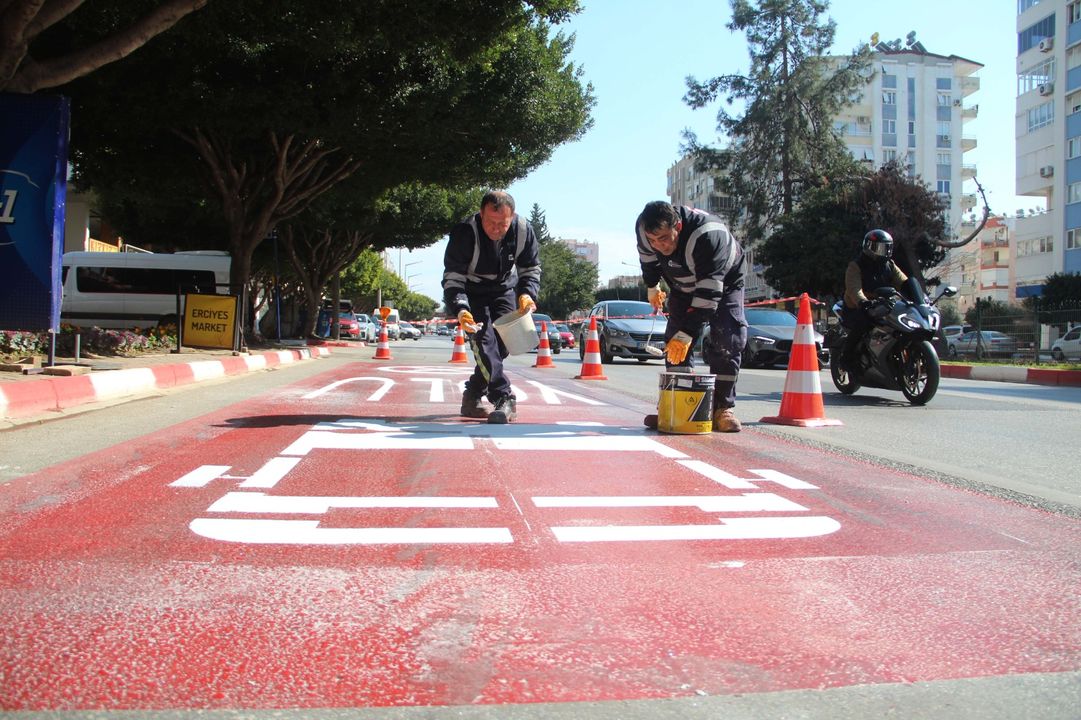
[[916, 278], [909, 278], [893, 262], [893, 236], [876, 228], [864, 236], [859, 254], [849, 262], [844, 270], [842, 324], [846, 334], [840, 362], [845, 372], [858, 370], [859, 341], [875, 324], [869, 312], [878, 297], [875, 291], [885, 286], [898, 291], [907, 289], [911, 299], [918, 299], [922, 295]]

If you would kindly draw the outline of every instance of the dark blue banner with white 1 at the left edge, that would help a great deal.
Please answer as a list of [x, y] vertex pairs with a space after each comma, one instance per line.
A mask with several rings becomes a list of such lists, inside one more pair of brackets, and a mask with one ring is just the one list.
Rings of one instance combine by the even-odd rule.
[[0, 94], [0, 329], [59, 330], [68, 98]]

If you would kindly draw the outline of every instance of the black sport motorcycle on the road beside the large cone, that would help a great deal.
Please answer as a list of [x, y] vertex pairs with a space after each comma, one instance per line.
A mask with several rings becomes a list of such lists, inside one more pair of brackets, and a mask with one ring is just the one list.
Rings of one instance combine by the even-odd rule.
[[[946, 286], [929, 301], [919, 293], [921, 302], [911, 301], [893, 288], [879, 288], [878, 297], [867, 310], [873, 325], [859, 341], [855, 366], [842, 368], [830, 362], [833, 385], [844, 395], [852, 395], [862, 386], [885, 390], [900, 390], [913, 405], [924, 405], [938, 391], [942, 370], [932, 338], [938, 332], [939, 312], [935, 304], [943, 297], [952, 297], [957, 288]], [[843, 302], [832, 307], [840, 321], [844, 314]], [[830, 329], [827, 345], [837, 355], [844, 346], [844, 325], [838, 322]]]

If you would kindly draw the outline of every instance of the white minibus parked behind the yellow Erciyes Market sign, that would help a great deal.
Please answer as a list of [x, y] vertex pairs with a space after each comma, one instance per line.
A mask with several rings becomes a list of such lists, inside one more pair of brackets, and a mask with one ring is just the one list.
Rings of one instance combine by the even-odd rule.
[[228, 253], [64, 253], [61, 322], [80, 328], [176, 324], [176, 292], [229, 294]]

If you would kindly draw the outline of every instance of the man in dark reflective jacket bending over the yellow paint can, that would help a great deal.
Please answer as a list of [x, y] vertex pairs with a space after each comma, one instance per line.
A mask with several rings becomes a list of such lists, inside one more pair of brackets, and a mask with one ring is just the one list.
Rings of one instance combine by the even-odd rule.
[[[665, 366], [692, 372], [691, 348], [709, 324], [709, 372], [713, 387], [713, 430], [738, 432], [733, 408], [736, 378], [747, 321], [744, 318], [743, 246], [721, 218], [700, 210], [676, 208], [664, 201], [645, 205], [635, 224], [642, 280], [655, 310], [668, 299], [665, 331]], [[671, 295], [660, 290], [660, 279]], [[646, 415], [646, 427], [656, 428], [657, 416]]]

